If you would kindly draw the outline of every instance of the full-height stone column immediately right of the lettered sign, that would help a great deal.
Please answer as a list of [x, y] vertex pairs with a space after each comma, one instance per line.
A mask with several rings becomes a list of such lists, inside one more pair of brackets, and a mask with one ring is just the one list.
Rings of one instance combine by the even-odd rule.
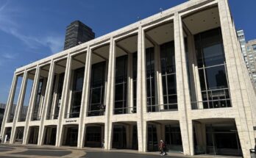
[[79, 122], [79, 132], [78, 132], [78, 148], [82, 148], [85, 146], [85, 118], [88, 111], [89, 105], [89, 97], [90, 97], [90, 71], [91, 71], [91, 49], [88, 46], [87, 53], [86, 53], [86, 61], [85, 61], [85, 77], [84, 77], [84, 84], [82, 87], [82, 107], [80, 109], [80, 122]]

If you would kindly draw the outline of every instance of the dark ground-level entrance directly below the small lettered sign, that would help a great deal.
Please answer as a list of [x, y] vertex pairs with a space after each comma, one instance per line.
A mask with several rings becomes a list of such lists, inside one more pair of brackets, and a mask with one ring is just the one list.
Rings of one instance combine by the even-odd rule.
[[78, 125], [66, 126], [64, 130], [63, 146], [77, 146]]

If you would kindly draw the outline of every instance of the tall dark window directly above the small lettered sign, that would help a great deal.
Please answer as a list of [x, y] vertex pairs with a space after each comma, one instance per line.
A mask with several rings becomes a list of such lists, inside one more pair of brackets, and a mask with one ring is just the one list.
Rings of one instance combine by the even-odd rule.
[[84, 81], [84, 75], [85, 68], [78, 68], [74, 71], [71, 111], [69, 114], [69, 118], [79, 118], [82, 101], [82, 86]]

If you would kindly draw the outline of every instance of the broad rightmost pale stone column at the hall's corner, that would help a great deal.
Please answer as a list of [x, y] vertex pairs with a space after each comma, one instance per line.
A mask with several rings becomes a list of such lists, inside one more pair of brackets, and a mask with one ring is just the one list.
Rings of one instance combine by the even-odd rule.
[[250, 157], [249, 149], [253, 147], [253, 129], [251, 119], [248, 120], [248, 99], [244, 95], [246, 86], [243, 83], [243, 71], [239, 63], [239, 57], [235, 38], [232, 31], [232, 18], [227, 4], [227, 0], [218, 1], [218, 9], [221, 21], [221, 32], [224, 43], [224, 51], [227, 62], [227, 73], [229, 76], [230, 96], [232, 98], [232, 107], [237, 115], [235, 123], [238, 129], [238, 135], [241, 142], [243, 157]]

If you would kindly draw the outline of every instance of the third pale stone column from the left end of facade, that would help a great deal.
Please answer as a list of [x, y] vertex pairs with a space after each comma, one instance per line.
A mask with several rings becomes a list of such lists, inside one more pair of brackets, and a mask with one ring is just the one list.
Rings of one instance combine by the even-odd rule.
[[32, 118], [32, 111], [33, 111], [33, 107], [35, 104], [36, 95], [38, 92], [39, 78], [40, 78], [40, 67], [39, 67], [39, 65], [37, 65], [37, 68], [35, 70], [35, 77], [34, 77], [34, 82], [33, 82], [33, 87], [32, 87], [32, 93], [31, 93], [30, 99], [29, 99], [29, 107], [27, 110], [28, 112], [26, 115], [23, 144], [27, 144], [29, 142], [29, 122], [31, 121], [31, 118]]

